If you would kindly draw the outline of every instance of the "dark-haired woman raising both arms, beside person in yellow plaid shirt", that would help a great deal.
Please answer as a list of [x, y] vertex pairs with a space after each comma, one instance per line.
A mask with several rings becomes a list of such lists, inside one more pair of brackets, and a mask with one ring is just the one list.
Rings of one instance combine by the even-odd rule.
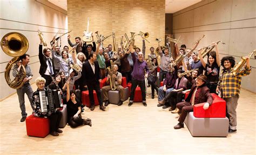
[[201, 64], [205, 70], [205, 76], [207, 77], [206, 86], [210, 89], [210, 93], [216, 93], [217, 83], [219, 81], [219, 71], [220, 71], [220, 59], [219, 50], [217, 43], [213, 43], [215, 51], [211, 51], [207, 58], [207, 63], [205, 63], [201, 51], [199, 51], [199, 58]]

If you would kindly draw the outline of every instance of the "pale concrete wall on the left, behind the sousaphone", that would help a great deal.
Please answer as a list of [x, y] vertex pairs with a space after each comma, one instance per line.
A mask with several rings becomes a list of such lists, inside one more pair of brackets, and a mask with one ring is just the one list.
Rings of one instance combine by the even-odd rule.
[[[68, 32], [68, 17], [65, 10], [43, 0], [2, 0], [0, 1], [0, 39], [9, 32], [22, 33], [29, 40], [30, 67], [34, 82], [39, 76], [38, 44], [39, 37], [37, 30], [41, 30], [44, 38], [50, 47], [50, 40], [55, 33]], [[62, 39], [62, 47], [68, 45], [66, 36]], [[0, 101], [10, 94], [16, 93], [5, 82], [4, 69], [12, 57], [6, 55], [1, 48], [0, 52]]]

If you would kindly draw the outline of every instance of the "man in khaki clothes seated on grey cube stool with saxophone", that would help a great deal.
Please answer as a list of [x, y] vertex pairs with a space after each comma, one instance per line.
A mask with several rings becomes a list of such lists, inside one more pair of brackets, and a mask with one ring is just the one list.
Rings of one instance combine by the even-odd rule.
[[[114, 65], [113, 68], [113, 73], [112, 73], [112, 85], [116, 86], [116, 90], [120, 91], [120, 102], [117, 105], [122, 105], [124, 101], [124, 87], [121, 86], [120, 84], [122, 83], [122, 74], [117, 72], [118, 66]], [[110, 83], [111, 76], [107, 75], [107, 84]], [[111, 86], [104, 86], [102, 87], [102, 92], [103, 92], [103, 102], [105, 102], [105, 106], [109, 105], [109, 97], [107, 96], [107, 91], [111, 90]]]

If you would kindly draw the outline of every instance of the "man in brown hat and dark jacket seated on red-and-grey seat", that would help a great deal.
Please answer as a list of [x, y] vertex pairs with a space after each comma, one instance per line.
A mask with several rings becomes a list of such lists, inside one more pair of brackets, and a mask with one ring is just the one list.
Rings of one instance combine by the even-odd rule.
[[[191, 80], [191, 79], [189, 79]], [[184, 121], [188, 112], [193, 111], [193, 105], [204, 103], [204, 109], [208, 109], [212, 104], [213, 98], [210, 94], [210, 89], [206, 86], [207, 77], [203, 74], [197, 76], [196, 80], [193, 80], [190, 94], [188, 94], [184, 102], [177, 104], [177, 108], [181, 111], [181, 115], [178, 119], [179, 123], [174, 126], [174, 129], [184, 128]]]

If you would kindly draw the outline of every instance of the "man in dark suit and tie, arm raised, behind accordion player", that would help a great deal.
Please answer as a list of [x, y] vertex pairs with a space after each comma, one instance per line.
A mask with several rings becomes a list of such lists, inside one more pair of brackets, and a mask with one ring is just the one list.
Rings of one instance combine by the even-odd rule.
[[43, 50], [42, 41], [40, 40], [39, 44], [39, 62], [40, 62], [40, 69], [39, 74], [46, 80], [45, 87], [47, 87], [51, 81], [52, 76], [55, 76], [55, 67], [53, 60], [50, 58], [51, 56], [51, 49], [48, 47], [45, 47]]

